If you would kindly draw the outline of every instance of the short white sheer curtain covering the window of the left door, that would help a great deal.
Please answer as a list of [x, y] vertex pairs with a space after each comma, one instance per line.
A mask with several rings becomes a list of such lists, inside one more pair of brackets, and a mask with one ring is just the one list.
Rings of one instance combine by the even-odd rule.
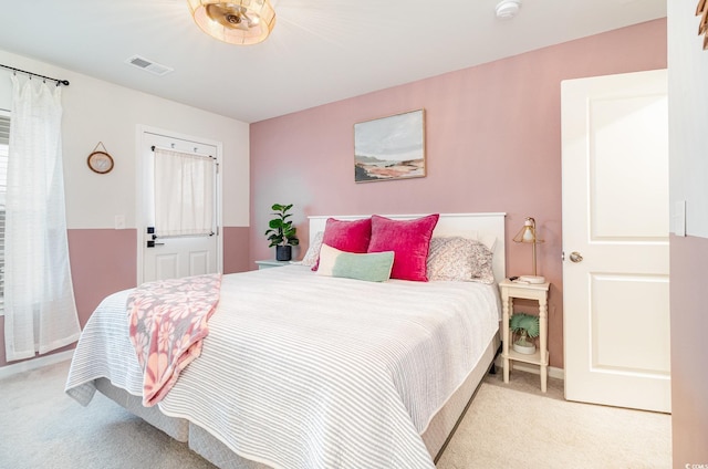
[[160, 237], [214, 233], [216, 159], [155, 148], [155, 231]]

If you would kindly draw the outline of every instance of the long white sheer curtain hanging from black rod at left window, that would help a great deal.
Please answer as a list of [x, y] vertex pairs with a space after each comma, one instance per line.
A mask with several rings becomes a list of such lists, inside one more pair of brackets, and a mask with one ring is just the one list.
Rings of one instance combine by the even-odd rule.
[[6, 201], [8, 361], [69, 345], [81, 327], [69, 264], [61, 87], [12, 75]]

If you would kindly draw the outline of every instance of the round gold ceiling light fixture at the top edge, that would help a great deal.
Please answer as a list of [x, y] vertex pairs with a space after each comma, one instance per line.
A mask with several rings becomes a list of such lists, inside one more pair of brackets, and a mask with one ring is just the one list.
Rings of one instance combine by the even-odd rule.
[[275, 25], [269, 0], [187, 0], [197, 25], [229, 44], [258, 44]]

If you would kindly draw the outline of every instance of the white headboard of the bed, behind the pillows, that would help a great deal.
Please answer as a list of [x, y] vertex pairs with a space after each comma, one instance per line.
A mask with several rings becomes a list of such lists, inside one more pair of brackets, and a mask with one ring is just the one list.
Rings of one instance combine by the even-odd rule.
[[[394, 220], [410, 220], [414, 218], [425, 217], [423, 215], [382, 215], [382, 217]], [[435, 227], [433, 236], [462, 236], [477, 237], [478, 240], [487, 243], [490, 239], [496, 239], [493, 246], [493, 265], [494, 279], [500, 282], [506, 277], [506, 236], [504, 236], [504, 217], [507, 213], [440, 213], [440, 219]], [[337, 220], [360, 220], [367, 218], [368, 215], [322, 215], [308, 217], [310, 219], [310, 244], [312, 244], [315, 234], [324, 231], [327, 218], [336, 218]]]

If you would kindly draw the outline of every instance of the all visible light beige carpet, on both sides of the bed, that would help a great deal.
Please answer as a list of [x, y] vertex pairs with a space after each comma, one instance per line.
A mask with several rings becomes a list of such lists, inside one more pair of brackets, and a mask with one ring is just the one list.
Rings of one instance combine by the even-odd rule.
[[[100, 393], [80, 406], [63, 393], [67, 367], [0, 381], [0, 468], [214, 468]], [[437, 467], [671, 466], [668, 415], [568, 403], [562, 386], [550, 379], [544, 395], [537, 375], [487, 376]]]

